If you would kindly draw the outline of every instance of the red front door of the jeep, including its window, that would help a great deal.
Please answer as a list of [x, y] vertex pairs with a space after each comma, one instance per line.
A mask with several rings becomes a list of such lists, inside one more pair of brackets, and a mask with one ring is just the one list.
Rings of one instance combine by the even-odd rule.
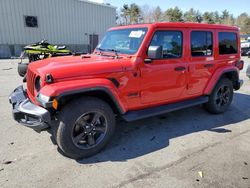
[[142, 103], [169, 103], [184, 98], [187, 86], [184, 35], [178, 29], [159, 29], [154, 33], [150, 46], [162, 46], [163, 55], [141, 67]]

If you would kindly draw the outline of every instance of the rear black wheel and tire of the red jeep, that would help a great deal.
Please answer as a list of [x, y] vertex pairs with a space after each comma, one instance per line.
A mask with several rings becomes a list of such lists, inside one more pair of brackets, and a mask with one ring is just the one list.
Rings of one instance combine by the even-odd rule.
[[222, 78], [216, 84], [209, 96], [209, 101], [204, 105], [206, 110], [213, 114], [225, 112], [233, 100], [233, 83], [228, 78]]

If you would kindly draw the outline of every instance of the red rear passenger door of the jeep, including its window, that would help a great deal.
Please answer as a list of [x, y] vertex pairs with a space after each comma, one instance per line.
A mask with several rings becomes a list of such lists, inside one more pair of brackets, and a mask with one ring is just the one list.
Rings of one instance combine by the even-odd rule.
[[202, 95], [215, 70], [214, 30], [189, 30], [188, 95]]

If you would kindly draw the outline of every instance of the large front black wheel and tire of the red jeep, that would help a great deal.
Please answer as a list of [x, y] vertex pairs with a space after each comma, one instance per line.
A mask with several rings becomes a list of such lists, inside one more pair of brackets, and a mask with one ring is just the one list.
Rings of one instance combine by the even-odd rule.
[[[90, 127], [91, 122], [94, 121], [93, 119], [95, 118], [95, 115], [91, 117], [91, 113], [99, 114], [98, 126], [99, 129], [105, 129], [105, 132], [98, 133], [96, 124], [96, 133], [86, 133], [90, 130], [86, 131], [87, 125]], [[93, 119], [90, 120], [91, 122], [89, 123], [86, 117]], [[103, 123], [102, 125], [101, 122]], [[92, 131], [94, 131], [94, 129]], [[101, 151], [111, 139], [114, 131], [115, 116], [111, 107], [98, 98], [84, 97], [70, 102], [60, 112], [56, 141], [66, 156], [73, 159], [81, 159]], [[81, 134], [84, 134], [82, 138], [78, 138]], [[97, 137], [98, 135], [99, 137]], [[100, 138], [100, 136], [102, 137]], [[95, 140], [95, 138], [97, 139], [95, 145], [93, 145], [93, 139]], [[99, 143], [97, 143], [98, 139]], [[89, 143], [90, 140], [92, 140], [91, 144]]]

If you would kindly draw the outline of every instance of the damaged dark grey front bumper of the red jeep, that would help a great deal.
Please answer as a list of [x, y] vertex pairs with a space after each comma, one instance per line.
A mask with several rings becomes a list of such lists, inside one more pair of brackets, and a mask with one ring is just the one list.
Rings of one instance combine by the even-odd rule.
[[40, 106], [33, 104], [27, 97], [22, 86], [17, 87], [9, 96], [12, 104], [13, 118], [20, 124], [42, 131], [50, 127], [50, 112]]

